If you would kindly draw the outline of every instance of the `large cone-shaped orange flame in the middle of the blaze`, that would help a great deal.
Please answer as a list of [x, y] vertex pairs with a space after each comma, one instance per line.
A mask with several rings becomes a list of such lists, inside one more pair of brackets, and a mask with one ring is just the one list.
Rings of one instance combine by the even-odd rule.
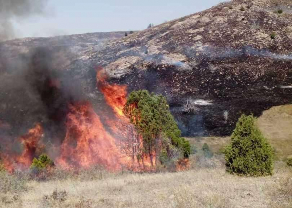
[[56, 164], [66, 169], [104, 165], [109, 170], [121, 169], [121, 156], [115, 139], [103, 127], [91, 104], [70, 105], [67, 133]]

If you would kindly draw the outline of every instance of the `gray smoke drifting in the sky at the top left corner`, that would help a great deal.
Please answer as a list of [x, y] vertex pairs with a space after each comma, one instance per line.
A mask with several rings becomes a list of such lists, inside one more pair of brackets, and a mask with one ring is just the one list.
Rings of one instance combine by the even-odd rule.
[[0, 41], [16, 36], [12, 20], [44, 13], [47, 0], [0, 0]]

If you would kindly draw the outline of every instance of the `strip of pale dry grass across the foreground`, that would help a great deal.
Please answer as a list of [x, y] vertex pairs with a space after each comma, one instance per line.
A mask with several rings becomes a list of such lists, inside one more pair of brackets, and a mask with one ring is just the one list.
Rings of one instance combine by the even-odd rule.
[[[224, 166], [194, 167], [196, 170], [179, 173], [29, 181], [26, 192], [1, 194], [0, 207], [269, 208], [291, 171], [281, 168], [274, 176], [247, 178], [226, 173]], [[282, 201], [289, 202], [287, 198]]]

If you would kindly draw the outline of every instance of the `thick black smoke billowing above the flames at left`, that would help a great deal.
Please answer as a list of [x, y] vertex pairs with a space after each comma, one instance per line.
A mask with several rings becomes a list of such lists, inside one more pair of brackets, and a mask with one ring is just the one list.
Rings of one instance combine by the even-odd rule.
[[57, 68], [60, 59], [55, 48], [32, 49], [18, 60], [21, 70], [0, 75], [0, 146], [1, 138], [14, 140], [36, 123], [44, 128], [46, 141], [65, 138], [69, 105], [86, 98], [82, 79]]

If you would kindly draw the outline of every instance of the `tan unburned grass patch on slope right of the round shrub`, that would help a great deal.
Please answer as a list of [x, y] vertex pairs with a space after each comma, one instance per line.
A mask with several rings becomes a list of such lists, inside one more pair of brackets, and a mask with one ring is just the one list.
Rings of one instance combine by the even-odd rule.
[[276, 156], [292, 155], [292, 105], [281, 105], [264, 111], [257, 126], [275, 148]]

